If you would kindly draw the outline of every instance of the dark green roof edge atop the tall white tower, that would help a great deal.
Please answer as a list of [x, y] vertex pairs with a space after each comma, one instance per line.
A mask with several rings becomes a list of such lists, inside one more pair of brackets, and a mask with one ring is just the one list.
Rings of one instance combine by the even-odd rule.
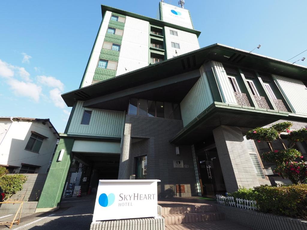
[[175, 24], [172, 24], [172, 23], [169, 23], [169, 22], [161, 21], [161, 20], [158, 20], [158, 19], [155, 19], [155, 18], [152, 18], [152, 17], [146, 17], [146, 16], [143, 16], [143, 15], [140, 15], [140, 14], [137, 14], [137, 13], [131, 13], [131, 12], [126, 11], [126, 10], [120, 10], [120, 9], [117, 9], [117, 8], [114, 8], [114, 7], [111, 7], [111, 6], [101, 5], [102, 17], [103, 17], [103, 15], [106, 11], [111, 11], [113, 13], [119, 13], [119, 14], [122, 14], [122, 15], [125, 15], [125, 16], [138, 18], [138, 19], [141, 19], [141, 20], [144, 20], [144, 21], [148, 21], [152, 24], [167, 26], [167, 27], [170, 27], [170, 28], [186, 31], [188, 33], [194, 33], [194, 34], [196, 34], [197, 37], [199, 37], [199, 35], [201, 33], [200, 31], [195, 30], [195, 29], [189, 29], [189, 28], [186, 28], [186, 27], [183, 27], [183, 26], [180, 26], [180, 25], [175, 25]]

